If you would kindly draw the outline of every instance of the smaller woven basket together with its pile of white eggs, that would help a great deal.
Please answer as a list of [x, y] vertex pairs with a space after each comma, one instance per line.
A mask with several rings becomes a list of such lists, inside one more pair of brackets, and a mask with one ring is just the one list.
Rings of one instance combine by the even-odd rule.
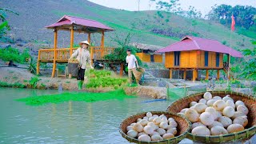
[[186, 138], [191, 122], [166, 111], [150, 111], [126, 118], [119, 127], [123, 138], [135, 143], [178, 143]]

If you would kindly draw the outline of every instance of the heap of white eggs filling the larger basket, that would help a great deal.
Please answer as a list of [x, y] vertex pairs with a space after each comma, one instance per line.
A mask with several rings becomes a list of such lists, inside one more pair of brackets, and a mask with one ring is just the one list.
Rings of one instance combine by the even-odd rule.
[[178, 114], [192, 122], [191, 133], [194, 135], [230, 134], [245, 129], [248, 124], [248, 108], [244, 102], [236, 101], [226, 95], [221, 98], [206, 92], [198, 102], [190, 102]]

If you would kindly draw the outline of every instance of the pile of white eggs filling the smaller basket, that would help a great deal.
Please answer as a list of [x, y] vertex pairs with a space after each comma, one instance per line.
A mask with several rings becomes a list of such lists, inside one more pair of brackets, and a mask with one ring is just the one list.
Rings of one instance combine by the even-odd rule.
[[138, 118], [137, 122], [126, 127], [127, 135], [138, 141], [162, 141], [174, 138], [177, 134], [178, 123], [174, 118], [167, 118], [164, 114], [146, 113], [146, 117]]

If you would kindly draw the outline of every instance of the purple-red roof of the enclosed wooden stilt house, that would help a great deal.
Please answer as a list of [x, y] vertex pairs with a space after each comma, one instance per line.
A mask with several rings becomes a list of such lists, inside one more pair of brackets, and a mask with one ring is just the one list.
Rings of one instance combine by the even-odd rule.
[[170, 46], [158, 50], [157, 53], [165, 53], [170, 51], [188, 51], [188, 50], [203, 50], [213, 51], [218, 53], [230, 54], [233, 57], [242, 58], [242, 54], [230, 48], [229, 46], [222, 45], [221, 42], [206, 38], [197, 38], [186, 36], [180, 42], [176, 42]]

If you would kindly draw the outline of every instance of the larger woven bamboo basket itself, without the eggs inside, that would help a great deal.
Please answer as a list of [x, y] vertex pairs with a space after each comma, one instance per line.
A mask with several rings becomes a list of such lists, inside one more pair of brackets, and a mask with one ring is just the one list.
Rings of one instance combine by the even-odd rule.
[[[187, 134], [186, 138], [189, 138], [195, 142], [234, 142], [238, 140], [247, 140], [254, 136], [256, 131], [256, 98], [247, 94], [242, 94], [232, 91], [211, 91], [213, 96], [225, 97], [227, 94], [230, 94], [230, 97], [234, 101], [241, 100], [249, 109], [248, 125], [245, 127], [245, 130], [242, 130], [238, 133], [233, 134], [223, 134], [218, 136], [197, 136], [193, 135], [190, 132]], [[182, 109], [189, 107], [190, 102], [198, 102], [199, 99], [203, 97], [203, 93], [191, 94], [185, 98], [181, 98], [178, 101], [170, 104], [166, 111], [172, 112], [174, 114], [179, 113]]]

